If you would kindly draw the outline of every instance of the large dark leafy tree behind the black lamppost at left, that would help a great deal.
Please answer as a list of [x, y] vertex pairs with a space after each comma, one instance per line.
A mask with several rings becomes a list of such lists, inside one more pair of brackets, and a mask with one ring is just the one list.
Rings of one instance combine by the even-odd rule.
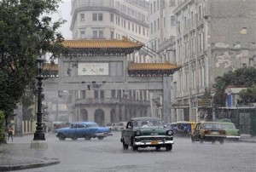
[[61, 0], [0, 1], [0, 110], [5, 118], [26, 95], [35, 89], [37, 58], [51, 54], [54, 60], [63, 52], [64, 38], [57, 29], [65, 20], [55, 22]]

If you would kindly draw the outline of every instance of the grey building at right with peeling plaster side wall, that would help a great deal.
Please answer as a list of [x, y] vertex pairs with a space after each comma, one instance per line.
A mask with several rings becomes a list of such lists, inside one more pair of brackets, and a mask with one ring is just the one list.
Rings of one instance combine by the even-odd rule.
[[214, 78], [256, 63], [255, 0], [177, 0], [177, 120], [198, 120], [196, 99]]

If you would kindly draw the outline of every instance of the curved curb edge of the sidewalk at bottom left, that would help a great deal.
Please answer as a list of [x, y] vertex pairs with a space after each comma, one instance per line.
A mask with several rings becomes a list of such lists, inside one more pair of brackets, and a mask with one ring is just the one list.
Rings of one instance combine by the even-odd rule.
[[3, 166], [0, 166], [0, 171], [12, 171], [12, 170], [17, 170], [17, 169], [33, 169], [33, 168], [45, 167], [45, 166], [61, 163], [61, 161], [57, 158], [52, 158], [52, 159], [47, 159], [47, 160], [44, 159], [44, 161], [48, 161], [48, 162], [17, 164], [17, 165], [3, 165]]

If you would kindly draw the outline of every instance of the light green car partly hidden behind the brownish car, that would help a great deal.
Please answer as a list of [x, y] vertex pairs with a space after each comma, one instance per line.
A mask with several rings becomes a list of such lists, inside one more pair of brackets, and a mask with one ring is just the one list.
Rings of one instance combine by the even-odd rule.
[[236, 129], [234, 123], [220, 123], [220, 125], [226, 131], [227, 140], [239, 140], [241, 138], [240, 130]]

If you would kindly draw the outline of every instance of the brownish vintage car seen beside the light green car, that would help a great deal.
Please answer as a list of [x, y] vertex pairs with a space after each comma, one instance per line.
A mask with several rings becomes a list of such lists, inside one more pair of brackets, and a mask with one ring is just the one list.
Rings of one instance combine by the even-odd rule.
[[196, 123], [195, 130], [191, 135], [191, 140], [192, 142], [200, 141], [201, 143], [204, 141], [212, 141], [212, 143], [215, 143], [215, 141], [218, 140], [221, 144], [224, 144], [225, 133], [220, 123]]

